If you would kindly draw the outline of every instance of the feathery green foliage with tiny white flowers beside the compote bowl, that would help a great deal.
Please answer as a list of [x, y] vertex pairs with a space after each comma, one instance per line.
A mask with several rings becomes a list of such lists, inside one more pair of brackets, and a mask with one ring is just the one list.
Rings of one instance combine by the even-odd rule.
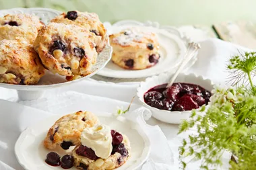
[[[201, 169], [209, 169], [222, 165], [222, 154], [229, 151], [237, 157], [236, 161], [230, 159], [230, 169], [256, 169], [256, 88], [251, 79], [256, 70], [256, 53], [233, 56], [228, 69], [234, 85], [241, 85], [215, 87], [209, 108], [193, 111], [190, 120], [183, 120], [179, 133], [194, 127], [197, 134], [183, 140], [180, 154], [203, 159]], [[251, 86], [246, 87], [246, 82]], [[187, 163], [182, 165], [185, 169]]]

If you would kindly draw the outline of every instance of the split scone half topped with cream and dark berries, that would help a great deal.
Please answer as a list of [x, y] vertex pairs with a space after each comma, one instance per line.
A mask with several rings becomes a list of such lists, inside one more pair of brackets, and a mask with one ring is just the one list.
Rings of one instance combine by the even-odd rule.
[[108, 126], [96, 125], [84, 129], [81, 145], [73, 149], [72, 155], [78, 169], [108, 170], [123, 165], [131, 156], [130, 151], [127, 136]]

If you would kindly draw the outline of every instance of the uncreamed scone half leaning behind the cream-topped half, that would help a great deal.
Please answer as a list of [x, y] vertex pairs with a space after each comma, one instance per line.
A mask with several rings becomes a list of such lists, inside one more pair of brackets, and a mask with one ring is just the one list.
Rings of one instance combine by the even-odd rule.
[[98, 124], [98, 118], [91, 112], [76, 112], [63, 116], [49, 129], [44, 146], [49, 149], [60, 145], [63, 149], [79, 145], [82, 130]]

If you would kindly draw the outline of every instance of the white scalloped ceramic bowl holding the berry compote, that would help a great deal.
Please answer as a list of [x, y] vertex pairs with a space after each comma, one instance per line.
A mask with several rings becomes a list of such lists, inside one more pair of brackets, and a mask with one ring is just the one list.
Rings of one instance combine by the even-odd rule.
[[[149, 108], [152, 111], [152, 116], [162, 122], [170, 123], [170, 124], [180, 124], [181, 120], [188, 119], [191, 111], [167, 111], [167, 110], [159, 110], [158, 108], [153, 108], [147, 103], [145, 103], [143, 95], [152, 87], [156, 87], [157, 85], [162, 85], [164, 83], [168, 83], [172, 77], [170, 73], [164, 73], [158, 76], [150, 77], [140, 83], [137, 88], [137, 97], [139, 101]], [[214, 89], [214, 83], [210, 79], [205, 79], [202, 76], [197, 76], [193, 73], [185, 74], [180, 73], [174, 83], [191, 83], [195, 85], [200, 85], [201, 87], [207, 89], [208, 91], [212, 91]]]

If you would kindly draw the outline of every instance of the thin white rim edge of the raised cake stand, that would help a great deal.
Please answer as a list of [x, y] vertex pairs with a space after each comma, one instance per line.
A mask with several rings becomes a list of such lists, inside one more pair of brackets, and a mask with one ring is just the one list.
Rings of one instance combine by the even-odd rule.
[[[22, 11], [22, 12], [26, 12], [26, 11], [50, 11], [50, 12], [54, 12], [58, 15], [60, 15], [61, 13], [63, 13], [62, 11], [58, 11], [56, 9], [51, 9], [51, 8], [44, 8], [44, 7], [32, 7], [32, 8], [22, 8], [22, 7], [16, 7], [16, 8], [11, 8], [11, 9], [1, 9], [0, 13], [8, 13], [8, 11]], [[110, 46], [110, 42], [109, 42], [109, 38], [108, 36], [107, 38], [107, 44], [105, 46], [106, 49], [108, 49], [110, 51], [110, 54], [108, 56], [108, 59], [104, 62], [103, 65], [101, 65], [100, 67], [98, 67], [98, 69], [96, 69], [94, 72], [90, 73], [90, 75], [86, 75], [85, 77], [82, 77], [80, 79], [76, 79], [73, 81], [66, 81], [63, 83], [56, 83], [56, 84], [51, 84], [51, 85], [12, 85], [12, 84], [7, 84], [7, 83], [0, 83], [0, 87], [5, 87], [8, 89], [16, 89], [16, 90], [22, 90], [22, 91], [42, 91], [44, 89], [52, 89], [55, 87], [60, 87], [60, 86], [64, 86], [64, 85], [69, 85], [71, 83], [77, 83], [86, 79], [89, 79], [90, 77], [92, 77], [93, 75], [95, 75], [96, 73], [98, 73], [99, 71], [101, 71], [104, 67], [106, 67], [106, 65], [108, 64], [108, 62], [111, 59], [112, 56], [112, 52], [113, 52], [113, 47]]]

